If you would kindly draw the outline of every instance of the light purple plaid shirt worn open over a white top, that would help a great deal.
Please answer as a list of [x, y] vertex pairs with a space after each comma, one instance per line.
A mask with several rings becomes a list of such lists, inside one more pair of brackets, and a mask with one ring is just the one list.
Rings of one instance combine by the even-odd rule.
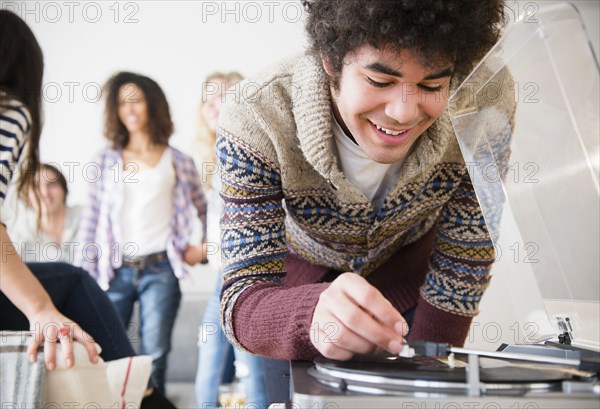
[[[186, 274], [183, 252], [188, 247], [192, 233], [192, 206], [202, 222], [202, 237], [206, 239], [206, 198], [194, 161], [175, 148], [169, 147], [173, 156], [176, 182], [173, 189], [173, 215], [167, 240], [167, 255], [175, 275]], [[121, 151], [104, 149], [97, 161], [100, 174], [92, 177], [89, 203], [83, 212], [79, 227], [79, 243], [75, 264], [87, 270], [98, 284], [107, 289], [114, 270], [123, 264], [123, 244], [119, 225], [123, 206], [123, 180], [115, 169], [123, 169]], [[116, 180], [115, 180], [116, 179]], [[143, 217], [143, 215], [140, 215]]]

